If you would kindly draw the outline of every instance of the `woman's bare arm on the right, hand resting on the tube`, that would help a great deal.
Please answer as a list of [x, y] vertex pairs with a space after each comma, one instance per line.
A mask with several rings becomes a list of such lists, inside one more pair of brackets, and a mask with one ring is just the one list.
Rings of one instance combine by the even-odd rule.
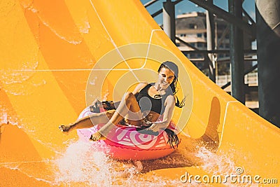
[[163, 119], [160, 122], [154, 122], [151, 127], [149, 127], [150, 130], [153, 130], [154, 132], [157, 132], [158, 130], [168, 127], [170, 121], [172, 120], [172, 116], [174, 113], [174, 107], [175, 107], [175, 99], [173, 95], [167, 96], [167, 99], [165, 100], [166, 106], [165, 106], [165, 112], [163, 113]]

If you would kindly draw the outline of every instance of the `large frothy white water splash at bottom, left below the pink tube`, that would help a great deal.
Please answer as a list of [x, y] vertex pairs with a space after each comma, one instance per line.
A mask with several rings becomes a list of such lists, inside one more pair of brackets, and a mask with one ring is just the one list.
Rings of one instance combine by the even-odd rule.
[[111, 163], [102, 152], [94, 151], [90, 144], [78, 141], [71, 144], [57, 161], [57, 183], [85, 183], [88, 186], [113, 183]]

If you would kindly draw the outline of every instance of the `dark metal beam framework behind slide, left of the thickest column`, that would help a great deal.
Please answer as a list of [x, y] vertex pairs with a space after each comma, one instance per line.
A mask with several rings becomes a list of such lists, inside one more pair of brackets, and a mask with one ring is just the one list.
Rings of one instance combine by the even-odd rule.
[[[151, 0], [145, 6], [149, 6], [155, 3], [156, 0]], [[160, 13], [164, 13], [165, 9], [172, 7], [174, 8], [175, 4], [178, 4], [182, 0], [173, 1], [167, 0], [164, 3], [164, 8], [160, 9], [159, 11], [153, 13], [153, 17], [159, 15]], [[229, 11], [224, 11], [222, 8], [215, 6], [213, 4], [213, 0], [189, 0], [193, 3], [201, 6], [202, 8], [207, 10], [207, 50], [198, 50], [197, 48], [193, 48], [190, 46], [189, 43], [182, 41], [179, 38], [176, 38], [173, 34], [173, 26], [171, 17], [173, 17], [174, 9], [172, 9], [171, 14], [170, 12], [164, 13], [164, 29], [167, 32], [167, 35], [175, 42], [177, 39], [181, 43], [184, 43], [186, 46], [193, 48], [195, 51], [182, 51], [185, 55], [191, 53], [202, 53], [204, 54], [204, 60], [209, 61], [209, 78], [212, 81], [215, 81], [215, 64], [212, 55], [214, 53], [230, 53], [230, 62], [231, 62], [231, 71], [232, 71], [232, 96], [238, 99], [240, 102], [245, 103], [245, 92], [244, 92], [244, 53], [248, 53], [248, 51], [244, 51], [244, 41], [243, 41], [243, 32], [251, 34], [253, 38], [256, 37], [256, 23], [255, 21], [248, 15], [248, 13], [242, 8], [242, 4], [244, 0], [228, 0], [229, 4]], [[264, 0], [255, 0], [257, 1], [264, 1]], [[272, 0], [277, 1], [277, 0]], [[169, 6], [167, 6], [169, 4]], [[172, 4], [172, 6], [171, 6]], [[264, 3], [265, 4], [265, 3]], [[164, 11], [162, 11], [164, 10]], [[243, 16], [247, 18], [247, 20], [243, 20]], [[222, 39], [216, 41], [216, 48], [215, 48], [215, 40], [214, 40], [214, 21], [213, 15], [217, 15], [219, 18], [222, 18], [226, 22], [229, 22], [230, 25], [225, 29], [223, 32]], [[171, 15], [171, 16], [170, 16]], [[279, 16], [279, 15], [278, 15]], [[280, 16], [279, 16], [280, 17]], [[173, 18], [172, 18], [173, 19]], [[166, 20], [169, 20], [166, 22]], [[175, 19], [174, 19], [175, 22]], [[175, 27], [175, 26], [174, 26]], [[223, 38], [225, 35], [230, 32], [230, 50], [218, 50], [218, 46], [220, 46]], [[174, 30], [175, 33], [175, 30]], [[174, 37], [173, 37], [174, 36]], [[259, 42], [258, 42], [259, 43]], [[258, 46], [260, 46], [258, 44]], [[216, 50], [215, 50], [216, 49]], [[255, 50], [250, 50], [249, 53], [256, 53]], [[258, 53], [258, 58], [259, 58]]]

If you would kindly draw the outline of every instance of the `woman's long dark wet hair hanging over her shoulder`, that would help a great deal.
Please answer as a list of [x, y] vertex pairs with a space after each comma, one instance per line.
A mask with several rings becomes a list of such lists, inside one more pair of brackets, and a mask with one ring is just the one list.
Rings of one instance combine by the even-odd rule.
[[158, 73], [160, 73], [160, 70], [163, 67], [171, 70], [174, 73], [174, 76], [175, 76], [174, 80], [173, 80], [173, 82], [169, 86], [170, 86], [170, 88], [172, 90], [172, 93], [173, 93], [175, 99], [176, 99], [175, 106], [177, 106], [179, 108], [182, 108], [183, 106], [185, 106], [185, 99], [186, 98], [184, 98], [180, 102], [178, 97], [175, 96], [176, 92], [178, 91], [178, 90], [176, 90], [176, 86], [177, 86], [177, 82], [178, 82], [179, 68], [178, 68], [178, 66], [174, 62], [166, 61], [166, 62], [163, 62], [162, 64], [160, 64], [160, 67], [158, 68]]

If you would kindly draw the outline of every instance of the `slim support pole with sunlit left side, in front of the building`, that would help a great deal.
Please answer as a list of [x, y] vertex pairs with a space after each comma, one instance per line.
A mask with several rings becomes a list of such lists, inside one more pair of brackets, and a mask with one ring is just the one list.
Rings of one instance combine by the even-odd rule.
[[[209, 4], [213, 4], [213, 0], [208, 0]], [[215, 48], [215, 26], [213, 13], [206, 12], [207, 25], [207, 50], [214, 50]], [[208, 54], [209, 57], [209, 78], [216, 83], [215, 57], [213, 53]]]

